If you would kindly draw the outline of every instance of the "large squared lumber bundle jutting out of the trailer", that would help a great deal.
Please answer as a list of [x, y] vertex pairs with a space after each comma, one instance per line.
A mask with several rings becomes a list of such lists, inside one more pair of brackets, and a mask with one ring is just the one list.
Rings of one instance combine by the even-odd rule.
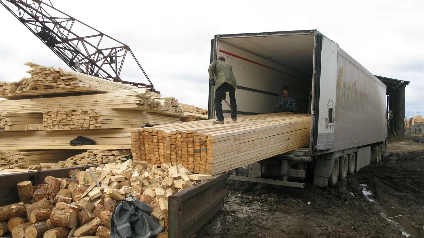
[[305, 114], [241, 116], [224, 125], [212, 121], [133, 129], [133, 158], [214, 175], [309, 145], [310, 116]]

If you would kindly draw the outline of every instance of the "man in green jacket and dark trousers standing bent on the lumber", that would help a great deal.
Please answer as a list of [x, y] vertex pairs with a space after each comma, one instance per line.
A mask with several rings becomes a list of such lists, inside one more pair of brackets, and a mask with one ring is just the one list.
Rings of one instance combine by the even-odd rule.
[[237, 82], [234, 77], [233, 68], [225, 62], [225, 58], [220, 56], [217, 61], [209, 65], [209, 81], [215, 86], [215, 113], [217, 120], [213, 123], [224, 124], [222, 113], [222, 101], [225, 100], [226, 92], [230, 94], [231, 119], [237, 121], [236, 89]]

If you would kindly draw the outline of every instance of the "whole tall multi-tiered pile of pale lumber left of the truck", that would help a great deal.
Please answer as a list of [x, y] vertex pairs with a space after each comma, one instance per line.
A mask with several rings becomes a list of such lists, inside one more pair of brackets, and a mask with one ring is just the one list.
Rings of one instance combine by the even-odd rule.
[[[30, 77], [0, 83], [0, 97], [8, 99], [0, 101], [0, 173], [123, 162], [131, 154], [130, 128], [207, 118], [204, 109], [147, 89], [25, 65]], [[96, 144], [70, 146], [78, 136]]]

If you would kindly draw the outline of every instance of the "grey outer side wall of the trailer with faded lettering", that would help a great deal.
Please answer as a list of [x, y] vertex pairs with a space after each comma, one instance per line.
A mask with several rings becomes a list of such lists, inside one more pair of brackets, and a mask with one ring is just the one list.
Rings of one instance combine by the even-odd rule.
[[385, 141], [385, 84], [340, 48], [337, 67], [333, 150]]

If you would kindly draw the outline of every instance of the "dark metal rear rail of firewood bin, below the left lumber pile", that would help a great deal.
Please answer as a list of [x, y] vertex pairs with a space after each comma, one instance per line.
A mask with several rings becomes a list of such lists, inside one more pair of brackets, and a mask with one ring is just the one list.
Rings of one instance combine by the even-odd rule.
[[56, 178], [69, 177], [71, 169], [85, 170], [92, 166], [78, 166], [63, 169], [49, 169], [41, 171], [31, 171], [14, 174], [0, 174], [0, 207], [19, 202], [16, 184], [22, 181], [31, 181], [33, 185], [44, 182], [45, 177], [53, 176]]

